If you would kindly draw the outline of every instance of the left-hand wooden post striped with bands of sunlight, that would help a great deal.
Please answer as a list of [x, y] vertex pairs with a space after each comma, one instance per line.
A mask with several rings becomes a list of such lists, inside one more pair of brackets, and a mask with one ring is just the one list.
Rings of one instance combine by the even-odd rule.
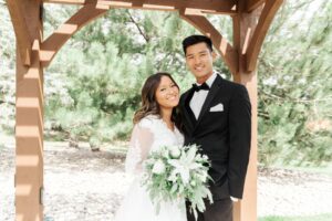
[[43, 70], [39, 50], [42, 40], [41, 1], [19, 1], [31, 36], [31, 65], [17, 50], [15, 220], [43, 220]]

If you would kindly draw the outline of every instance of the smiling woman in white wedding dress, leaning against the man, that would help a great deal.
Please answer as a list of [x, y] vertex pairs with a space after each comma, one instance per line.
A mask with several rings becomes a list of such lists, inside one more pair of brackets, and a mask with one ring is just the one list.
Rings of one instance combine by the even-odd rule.
[[185, 201], [165, 201], [157, 213], [145, 187], [142, 186], [144, 160], [162, 146], [183, 145], [175, 107], [179, 87], [167, 73], [151, 75], [142, 88], [142, 106], [134, 116], [134, 129], [125, 169], [134, 176], [115, 221], [187, 221]]

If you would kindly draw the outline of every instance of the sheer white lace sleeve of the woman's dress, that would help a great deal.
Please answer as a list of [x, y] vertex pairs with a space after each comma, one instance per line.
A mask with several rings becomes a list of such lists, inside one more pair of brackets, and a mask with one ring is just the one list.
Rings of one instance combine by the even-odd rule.
[[126, 156], [125, 170], [128, 173], [141, 173], [142, 162], [146, 159], [153, 144], [153, 133], [145, 123], [134, 126], [132, 138]]

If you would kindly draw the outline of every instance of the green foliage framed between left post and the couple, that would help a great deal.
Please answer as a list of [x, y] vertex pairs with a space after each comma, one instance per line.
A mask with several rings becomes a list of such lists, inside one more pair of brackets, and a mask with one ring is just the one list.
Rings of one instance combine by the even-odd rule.
[[111, 10], [85, 27], [49, 69], [65, 82], [65, 94], [48, 97], [51, 128], [93, 144], [126, 139], [148, 75], [166, 71], [187, 87], [179, 33], [194, 31], [175, 13], [131, 10]]

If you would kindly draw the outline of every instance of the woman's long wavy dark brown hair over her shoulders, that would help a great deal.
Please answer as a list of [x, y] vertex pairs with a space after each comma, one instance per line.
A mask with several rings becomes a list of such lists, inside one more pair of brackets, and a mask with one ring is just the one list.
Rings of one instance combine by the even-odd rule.
[[[160, 84], [162, 77], [167, 76], [172, 80], [172, 82], [177, 86], [179, 90], [177, 83], [174, 81], [170, 74], [165, 72], [159, 72], [156, 74], [151, 75], [145, 81], [143, 88], [142, 88], [142, 105], [138, 108], [138, 110], [134, 115], [134, 124], [138, 123], [142, 118], [144, 118], [147, 115], [156, 115], [160, 117], [160, 106], [156, 101], [156, 91]], [[175, 123], [177, 128], [181, 128], [181, 120], [180, 115], [178, 112], [178, 107], [173, 108], [172, 113], [172, 122]]]

